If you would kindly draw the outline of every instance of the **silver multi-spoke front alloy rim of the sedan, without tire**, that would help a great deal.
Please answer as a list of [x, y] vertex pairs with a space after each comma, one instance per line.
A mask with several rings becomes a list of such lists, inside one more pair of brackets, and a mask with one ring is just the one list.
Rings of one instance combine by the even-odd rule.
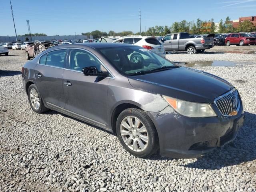
[[126, 116], [120, 125], [122, 140], [134, 152], [142, 152], [148, 146], [148, 130], [135, 116]]

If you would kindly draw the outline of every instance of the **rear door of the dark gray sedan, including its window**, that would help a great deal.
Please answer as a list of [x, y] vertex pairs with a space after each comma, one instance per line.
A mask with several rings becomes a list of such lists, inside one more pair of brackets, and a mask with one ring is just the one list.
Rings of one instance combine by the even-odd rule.
[[36, 84], [46, 104], [65, 108], [62, 76], [66, 67], [67, 49], [42, 55], [35, 67]]

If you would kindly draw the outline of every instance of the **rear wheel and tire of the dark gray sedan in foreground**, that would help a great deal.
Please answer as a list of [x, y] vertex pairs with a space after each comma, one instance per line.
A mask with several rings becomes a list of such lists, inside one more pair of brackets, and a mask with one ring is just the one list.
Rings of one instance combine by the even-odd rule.
[[35, 84], [30, 85], [28, 88], [28, 101], [32, 110], [36, 113], [43, 113], [49, 110], [44, 106], [40, 92]]

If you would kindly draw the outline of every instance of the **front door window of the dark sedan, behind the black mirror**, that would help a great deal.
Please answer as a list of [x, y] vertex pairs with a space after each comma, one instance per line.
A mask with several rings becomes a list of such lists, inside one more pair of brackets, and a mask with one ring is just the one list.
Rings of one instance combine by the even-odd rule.
[[91, 53], [80, 50], [72, 49], [70, 52], [69, 69], [82, 71], [85, 67], [95, 66], [98, 71], [101, 71], [101, 64], [99, 60]]

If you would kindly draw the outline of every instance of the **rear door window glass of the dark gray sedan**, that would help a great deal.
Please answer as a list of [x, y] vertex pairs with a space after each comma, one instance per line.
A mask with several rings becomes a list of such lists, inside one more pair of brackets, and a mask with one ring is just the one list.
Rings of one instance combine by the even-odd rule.
[[61, 49], [48, 52], [46, 65], [64, 68], [64, 60], [67, 50]]

